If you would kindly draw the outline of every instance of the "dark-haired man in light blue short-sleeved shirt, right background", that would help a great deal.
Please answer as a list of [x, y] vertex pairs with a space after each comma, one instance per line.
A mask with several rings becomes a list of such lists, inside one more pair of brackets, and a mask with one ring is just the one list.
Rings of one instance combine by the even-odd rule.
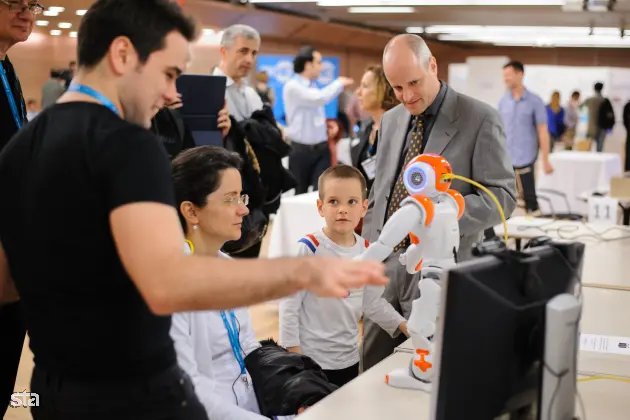
[[505, 125], [507, 153], [512, 159], [516, 181], [528, 213], [538, 210], [534, 164], [538, 151], [546, 174], [553, 172], [549, 163], [549, 131], [547, 110], [540, 96], [525, 89], [523, 63], [511, 61], [503, 67], [503, 79], [508, 88], [499, 102], [499, 112]]

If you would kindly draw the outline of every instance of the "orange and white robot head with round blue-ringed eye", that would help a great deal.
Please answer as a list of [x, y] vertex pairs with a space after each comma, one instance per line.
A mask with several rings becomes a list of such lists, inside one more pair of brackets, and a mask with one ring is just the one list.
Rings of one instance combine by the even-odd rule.
[[452, 174], [453, 169], [442, 156], [433, 153], [416, 156], [404, 171], [403, 182], [409, 195], [432, 195], [451, 187], [451, 180], [443, 180], [442, 176]]

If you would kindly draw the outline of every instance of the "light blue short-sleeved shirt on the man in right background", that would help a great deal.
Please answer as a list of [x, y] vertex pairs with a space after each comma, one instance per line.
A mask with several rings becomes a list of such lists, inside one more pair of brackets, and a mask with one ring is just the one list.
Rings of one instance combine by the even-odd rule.
[[532, 165], [538, 157], [538, 125], [547, 124], [547, 110], [540, 96], [525, 89], [515, 100], [508, 91], [499, 101], [512, 166]]

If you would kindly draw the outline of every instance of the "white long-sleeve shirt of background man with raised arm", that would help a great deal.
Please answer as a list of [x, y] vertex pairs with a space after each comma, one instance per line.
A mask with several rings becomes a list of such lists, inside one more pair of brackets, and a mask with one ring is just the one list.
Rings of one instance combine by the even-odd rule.
[[287, 129], [291, 141], [314, 145], [328, 141], [324, 106], [343, 92], [343, 83], [335, 80], [323, 89], [312, 87], [312, 82], [295, 75], [282, 91]]

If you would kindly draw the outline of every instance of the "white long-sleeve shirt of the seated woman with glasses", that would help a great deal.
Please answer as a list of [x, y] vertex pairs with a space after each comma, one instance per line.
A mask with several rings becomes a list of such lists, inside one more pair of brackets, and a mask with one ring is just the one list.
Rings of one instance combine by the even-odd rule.
[[[227, 257], [225, 254], [221, 256]], [[260, 347], [247, 308], [234, 310], [243, 359]], [[229, 320], [229, 316], [228, 316]], [[265, 420], [260, 415], [252, 379], [241, 379], [220, 311], [182, 312], [173, 315], [171, 338], [179, 366], [191, 377], [195, 393], [212, 420]], [[268, 420], [268, 419], [267, 419]]]

